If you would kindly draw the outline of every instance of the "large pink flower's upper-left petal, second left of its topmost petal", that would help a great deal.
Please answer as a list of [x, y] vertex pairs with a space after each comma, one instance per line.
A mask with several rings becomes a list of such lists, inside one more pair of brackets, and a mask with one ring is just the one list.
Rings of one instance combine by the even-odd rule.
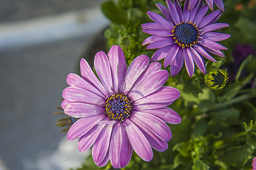
[[92, 84], [92, 86], [101, 91], [102, 94], [104, 94], [104, 96], [108, 96], [108, 92], [102, 86], [100, 80], [98, 80], [96, 75], [93, 73], [92, 69], [90, 69], [88, 62], [84, 58], [82, 58], [80, 61], [80, 69], [81, 76], [86, 82]]

